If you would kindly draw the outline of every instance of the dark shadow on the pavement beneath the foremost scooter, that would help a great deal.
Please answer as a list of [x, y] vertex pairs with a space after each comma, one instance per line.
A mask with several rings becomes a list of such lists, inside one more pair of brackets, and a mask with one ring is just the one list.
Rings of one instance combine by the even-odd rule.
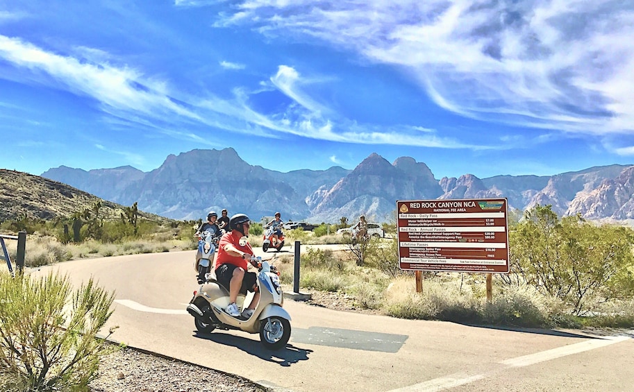
[[297, 364], [299, 361], [308, 361], [308, 354], [312, 352], [312, 350], [298, 348], [292, 344], [287, 344], [285, 348], [278, 351], [267, 350], [262, 346], [260, 341], [222, 332], [212, 332], [211, 334], [194, 332], [193, 336], [199, 339], [224, 344], [225, 346], [239, 348], [248, 354], [264, 359], [265, 361], [274, 362], [280, 366], [291, 366], [292, 364]]

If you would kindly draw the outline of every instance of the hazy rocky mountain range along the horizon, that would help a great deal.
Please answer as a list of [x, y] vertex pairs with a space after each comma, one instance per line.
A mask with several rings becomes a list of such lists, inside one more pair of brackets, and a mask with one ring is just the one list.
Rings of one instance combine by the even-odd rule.
[[634, 166], [613, 164], [555, 176], [435, 178], [423, 162], [399, 157], [390, 163], [376, 153], [353, 170], [297, 170], [283, 173], [244, 162], [233, 148], [169, 155], [150, 172], [130, 166], [73, 169], [61, 166], [42, 177], [71, 185], [120, 205], [172, 219], [199, 219], [226, 208], [251, 219], [282, 213], [284, 220], [312, 223], [394, 221], [397, 200], [507, 198], [510, 208], [552, 205], [560, 216], [590, 220], [634, 218]]

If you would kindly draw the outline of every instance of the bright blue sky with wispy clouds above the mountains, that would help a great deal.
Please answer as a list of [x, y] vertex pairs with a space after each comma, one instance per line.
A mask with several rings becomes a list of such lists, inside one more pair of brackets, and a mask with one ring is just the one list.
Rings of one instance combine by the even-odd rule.
[[634, 164], [634, 2], [0, 0], [0, 168]]

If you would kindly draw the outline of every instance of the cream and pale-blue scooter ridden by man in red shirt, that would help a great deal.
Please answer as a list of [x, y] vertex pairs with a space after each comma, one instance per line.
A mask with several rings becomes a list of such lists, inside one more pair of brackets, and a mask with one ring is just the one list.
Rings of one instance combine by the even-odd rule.
[[[229, 305], [229, 291], [217, 282], [215, 273], [206, 275], [194, 297], [187, 305], [187, 312], [194, 316], [194, 325], [199, 332], [210, 333], [221, 330], [242, 330], [250, 334], [260, 333], [265, 348], [280, 350], [290, 339], [290, 314], [282, 307], [284, 302], [280, 279], [274, 266], [260, 257], [251, 257], [251, 265], [258, 267], [258, 290], [260, 302], [249, 318], [231, 316], [224, 309]], [[236, 305], [240, 311], [247, 308], [246, 296], [240, 293]]]

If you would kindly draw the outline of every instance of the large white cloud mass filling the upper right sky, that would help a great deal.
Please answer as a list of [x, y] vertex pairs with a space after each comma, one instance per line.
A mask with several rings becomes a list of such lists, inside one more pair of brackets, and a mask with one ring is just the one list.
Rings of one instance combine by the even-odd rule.
[[216, 22], [231, 24], [404, 67], [438, 105], [467, 117], [599, 135], [634, 130], [628, 2], [248, 0]]

